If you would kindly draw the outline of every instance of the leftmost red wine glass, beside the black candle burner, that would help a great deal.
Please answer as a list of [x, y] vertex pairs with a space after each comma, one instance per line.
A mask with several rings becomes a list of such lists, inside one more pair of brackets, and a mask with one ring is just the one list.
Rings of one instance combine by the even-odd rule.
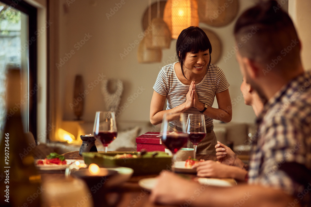
[[115, 113], [112, 111], [96, 111], [94, 121], [94, 136], [105, 147], [107, 153], [108, 145], [117, 137], [117, 125]]

